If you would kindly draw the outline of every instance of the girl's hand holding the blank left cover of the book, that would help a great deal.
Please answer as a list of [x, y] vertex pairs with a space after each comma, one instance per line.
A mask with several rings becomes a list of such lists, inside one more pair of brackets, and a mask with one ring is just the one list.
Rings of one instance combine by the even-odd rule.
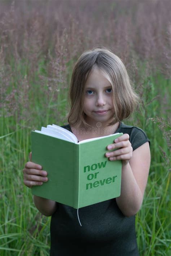
[[31, 188], [32, 186], [42, 185], [43, 182], [47, 182], [48, 178], [47, 172], [41, 170], [42, 167], [34, 162], [31, 162], [31, 152], [30, 152], [30, 162], [26, 162], [25, 168], [23, 169], [24, 184]]

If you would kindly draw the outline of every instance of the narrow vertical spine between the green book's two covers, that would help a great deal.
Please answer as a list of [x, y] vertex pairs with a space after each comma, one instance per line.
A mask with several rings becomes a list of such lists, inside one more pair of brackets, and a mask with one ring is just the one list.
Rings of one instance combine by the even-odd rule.
[[79, 208], [79, 186], [80, 186], [80, 144], [75, 144], [74, 147], [74, 182], [73, 182], [73, 207]]

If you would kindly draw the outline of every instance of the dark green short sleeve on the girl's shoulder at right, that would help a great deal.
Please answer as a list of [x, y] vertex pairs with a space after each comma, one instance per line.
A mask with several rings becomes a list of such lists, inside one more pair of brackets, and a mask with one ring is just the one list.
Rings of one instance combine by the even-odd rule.
[[130, 135], [130, 142], [133, 150], [137, 149], [138, 147], [140, 147], [142, 144], [146, 142], [149, 142], [149, 146], [150, 146], [150, 140], [147, 137], [146, 133], [138, 127], [133, 127], [132, 133]]

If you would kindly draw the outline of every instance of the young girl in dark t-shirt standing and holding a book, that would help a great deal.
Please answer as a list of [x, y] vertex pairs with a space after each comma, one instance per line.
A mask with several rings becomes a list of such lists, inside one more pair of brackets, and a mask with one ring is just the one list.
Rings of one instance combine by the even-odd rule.
[[[121, 122], [130, 116], [138, 100], [125, 66], [108, 49], [84, 52], [74, 67], [69, 96], [69, 124], [62, 127], [73, 132], [78, 141], [123, 133], [113, 144], [106, 145], [106, 152], [116, 149], [106, 153], [109, 161], [122, 160], [121, 195], [80, 208], [82, 226], [76, 209], [34, 196], [38, 210], [52, 216], [50, 254], [139, 255], [135, 214], [141, 207], [148, 179], [150, 149], [143, 130]], [[48, 173], [31, 161], [23, 173], [27, 187], [48, 181]]]

